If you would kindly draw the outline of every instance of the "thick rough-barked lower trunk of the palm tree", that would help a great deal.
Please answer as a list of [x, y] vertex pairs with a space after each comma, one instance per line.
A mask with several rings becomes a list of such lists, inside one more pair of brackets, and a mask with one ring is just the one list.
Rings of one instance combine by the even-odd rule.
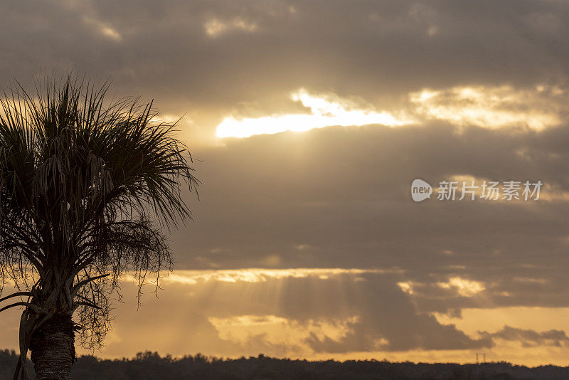
[[75, 333], [71, 316], [53, 315], [33, 333], [30, 351], [36, 380], [69, 380], [75, 361]]

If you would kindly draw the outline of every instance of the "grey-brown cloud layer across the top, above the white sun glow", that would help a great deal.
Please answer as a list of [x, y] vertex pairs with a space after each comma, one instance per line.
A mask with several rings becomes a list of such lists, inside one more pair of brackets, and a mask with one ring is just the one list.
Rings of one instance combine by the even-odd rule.
[[[558, 125], [569, 9], [506, 4], [334, 1], [322, 12], [317, 1], [24, 2], [0, 16], [0, 82], [25, 84], [42, 69], [110, 75], [118, 95], [187, 114], [198, 127], [185, 133], [199, 143], [226, 117], [302, 113], [289, 99], [299, 88], [361, 97], [395, 119], [419, 107], [484, 127]], [[425, 90], [436, 95], [421, 100]]]

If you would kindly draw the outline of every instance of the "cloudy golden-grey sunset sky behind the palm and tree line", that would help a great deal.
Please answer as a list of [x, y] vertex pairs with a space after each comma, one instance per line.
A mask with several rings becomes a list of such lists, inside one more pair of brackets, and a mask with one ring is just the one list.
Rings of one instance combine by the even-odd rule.
[[73, 70], [182, 117], [203, 182], [100, 357], [569, 364], [567, 2], [18, 1], [0, 36], [1, 85]]

